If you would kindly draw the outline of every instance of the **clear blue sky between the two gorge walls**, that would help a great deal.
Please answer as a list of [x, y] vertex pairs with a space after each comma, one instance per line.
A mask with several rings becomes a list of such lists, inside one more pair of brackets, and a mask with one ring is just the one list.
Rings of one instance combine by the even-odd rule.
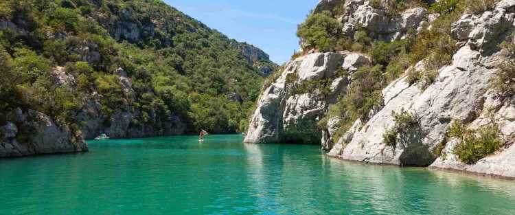
[[260, 47], [282, 64], [299, 49], [297, 24], [318, 0], [164, 0], [238, 41]]

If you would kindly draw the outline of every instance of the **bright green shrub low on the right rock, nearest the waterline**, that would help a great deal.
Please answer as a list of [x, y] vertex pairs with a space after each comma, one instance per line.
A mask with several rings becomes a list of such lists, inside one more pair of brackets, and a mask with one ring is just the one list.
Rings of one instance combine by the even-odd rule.
[[468, 164], [477, 163], [496, 152], [502, 143], [501, 130], [494, 121], [477, 129], [468, 129], [461, 122], [455, 122], [451, 124], [448, 135], [459, 140], [453, 153], [461, 162]]

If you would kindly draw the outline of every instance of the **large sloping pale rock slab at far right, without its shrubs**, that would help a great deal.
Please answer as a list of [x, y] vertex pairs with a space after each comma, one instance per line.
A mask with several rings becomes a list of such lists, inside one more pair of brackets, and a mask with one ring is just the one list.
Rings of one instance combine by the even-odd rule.
[[[499, 47], [514, 30], [515, 1], [501, 1], [493, 11], [479, 15], [465, 14], [453, 23], [452, 33], [461, 44], [451, 65], [439, 69], [439, 76], [427, 89], [409, 85], [406, 76], [382, 91], [384, 106], [365, 123], [356, 122], [346, 137], [330, 148], [328, 155], [353, 161], [431, 166], [481, 174], [515, 177], [515, 99], [501, 100], [492, 89], [503, 54]], [[412, 69], [423, 69], [419, 63]], [[402, 109], [415, 115], [417, 125], [398, 135], [396, 147], [387, 146], [385, 130], [393, 127], [392, 111]], [[456, 139], [447, 139], [449, 125], [460, 120], [471, 128], [488, 123], [489, 115], [499, 120], [503, 149], [474, 165], [461, 163], [453, 150]], [[325, 139], [334, 128], [328, 124]], [[345, 136], [345, 135], [344, 135]], [[446, 143], [442, 156], [435, 148]]]

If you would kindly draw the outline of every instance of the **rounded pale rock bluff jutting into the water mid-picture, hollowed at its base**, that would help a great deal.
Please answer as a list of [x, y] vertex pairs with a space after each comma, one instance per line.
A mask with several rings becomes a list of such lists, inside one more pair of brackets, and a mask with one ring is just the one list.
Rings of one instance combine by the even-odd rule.
[[[347, 62], [347, 56], [350, 54], [316, 53], [290, 62], [262, 93], [244, 142], [320, 144], [322, 131], [317, 123], [328, 105], [345, 92], [348, 78], [339, 77], [338, 71]], [[327, 95], [317, 88], [293, 93], [293, 87], [320, 80], [328, 83]]]

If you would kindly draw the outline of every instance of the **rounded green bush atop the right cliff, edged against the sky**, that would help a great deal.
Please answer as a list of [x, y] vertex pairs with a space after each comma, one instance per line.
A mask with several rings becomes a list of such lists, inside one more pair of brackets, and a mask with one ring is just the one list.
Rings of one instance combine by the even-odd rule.
[[311, 14], [308, 19], [299, 25], [297, 36], [302, 38], [310, 47], [319, 49], [320, 52], [334, 51], [341, 32], [341, 23], [334, 19], [330, 12], [324, 11]]

